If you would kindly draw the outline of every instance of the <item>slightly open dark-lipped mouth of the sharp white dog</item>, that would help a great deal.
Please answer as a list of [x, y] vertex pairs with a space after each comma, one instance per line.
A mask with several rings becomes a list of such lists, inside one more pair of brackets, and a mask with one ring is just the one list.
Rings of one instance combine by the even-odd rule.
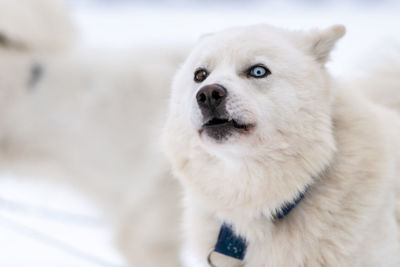
[[200, 134], [205, 132], [209, 137], [223, 141], [235, 132], [247, 133], [253, 127], [253, 124], [242, 123], [235, 119], [214, 117], [203, 124]]

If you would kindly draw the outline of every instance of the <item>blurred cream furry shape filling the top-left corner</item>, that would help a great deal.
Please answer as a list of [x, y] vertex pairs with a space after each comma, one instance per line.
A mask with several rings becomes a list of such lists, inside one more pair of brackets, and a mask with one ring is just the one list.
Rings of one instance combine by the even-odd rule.
[[75, 29], [61, 0], [0, 0], [0, 45], [56, 52], [70, 47]]

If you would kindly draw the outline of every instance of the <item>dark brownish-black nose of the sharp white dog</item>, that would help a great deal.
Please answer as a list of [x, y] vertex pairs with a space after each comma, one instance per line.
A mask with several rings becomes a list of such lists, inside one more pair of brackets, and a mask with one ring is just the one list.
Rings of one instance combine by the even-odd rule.
[[196, 95], [201, 110], [215, 110], [225, 103], [228, 92], [219, 84], [210, 84], [202, 87]]

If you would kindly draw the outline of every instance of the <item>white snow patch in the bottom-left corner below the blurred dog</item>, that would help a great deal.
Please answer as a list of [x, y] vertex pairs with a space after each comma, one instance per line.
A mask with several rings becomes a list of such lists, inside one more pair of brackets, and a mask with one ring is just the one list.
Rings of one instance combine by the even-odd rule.
[[123, 266], [88, 199], [43, 181], [0, 179], [0, 266]]

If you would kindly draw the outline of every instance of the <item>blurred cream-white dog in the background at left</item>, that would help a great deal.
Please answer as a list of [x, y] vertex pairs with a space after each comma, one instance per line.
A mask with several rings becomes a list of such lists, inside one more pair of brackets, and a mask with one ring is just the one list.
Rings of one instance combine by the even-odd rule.
[[179, 266], [179, 189], [157, 140], [183, 54], [91, 52], [63, 2], [0, 1], [0, 170], [91, 196], [129, 266]]

